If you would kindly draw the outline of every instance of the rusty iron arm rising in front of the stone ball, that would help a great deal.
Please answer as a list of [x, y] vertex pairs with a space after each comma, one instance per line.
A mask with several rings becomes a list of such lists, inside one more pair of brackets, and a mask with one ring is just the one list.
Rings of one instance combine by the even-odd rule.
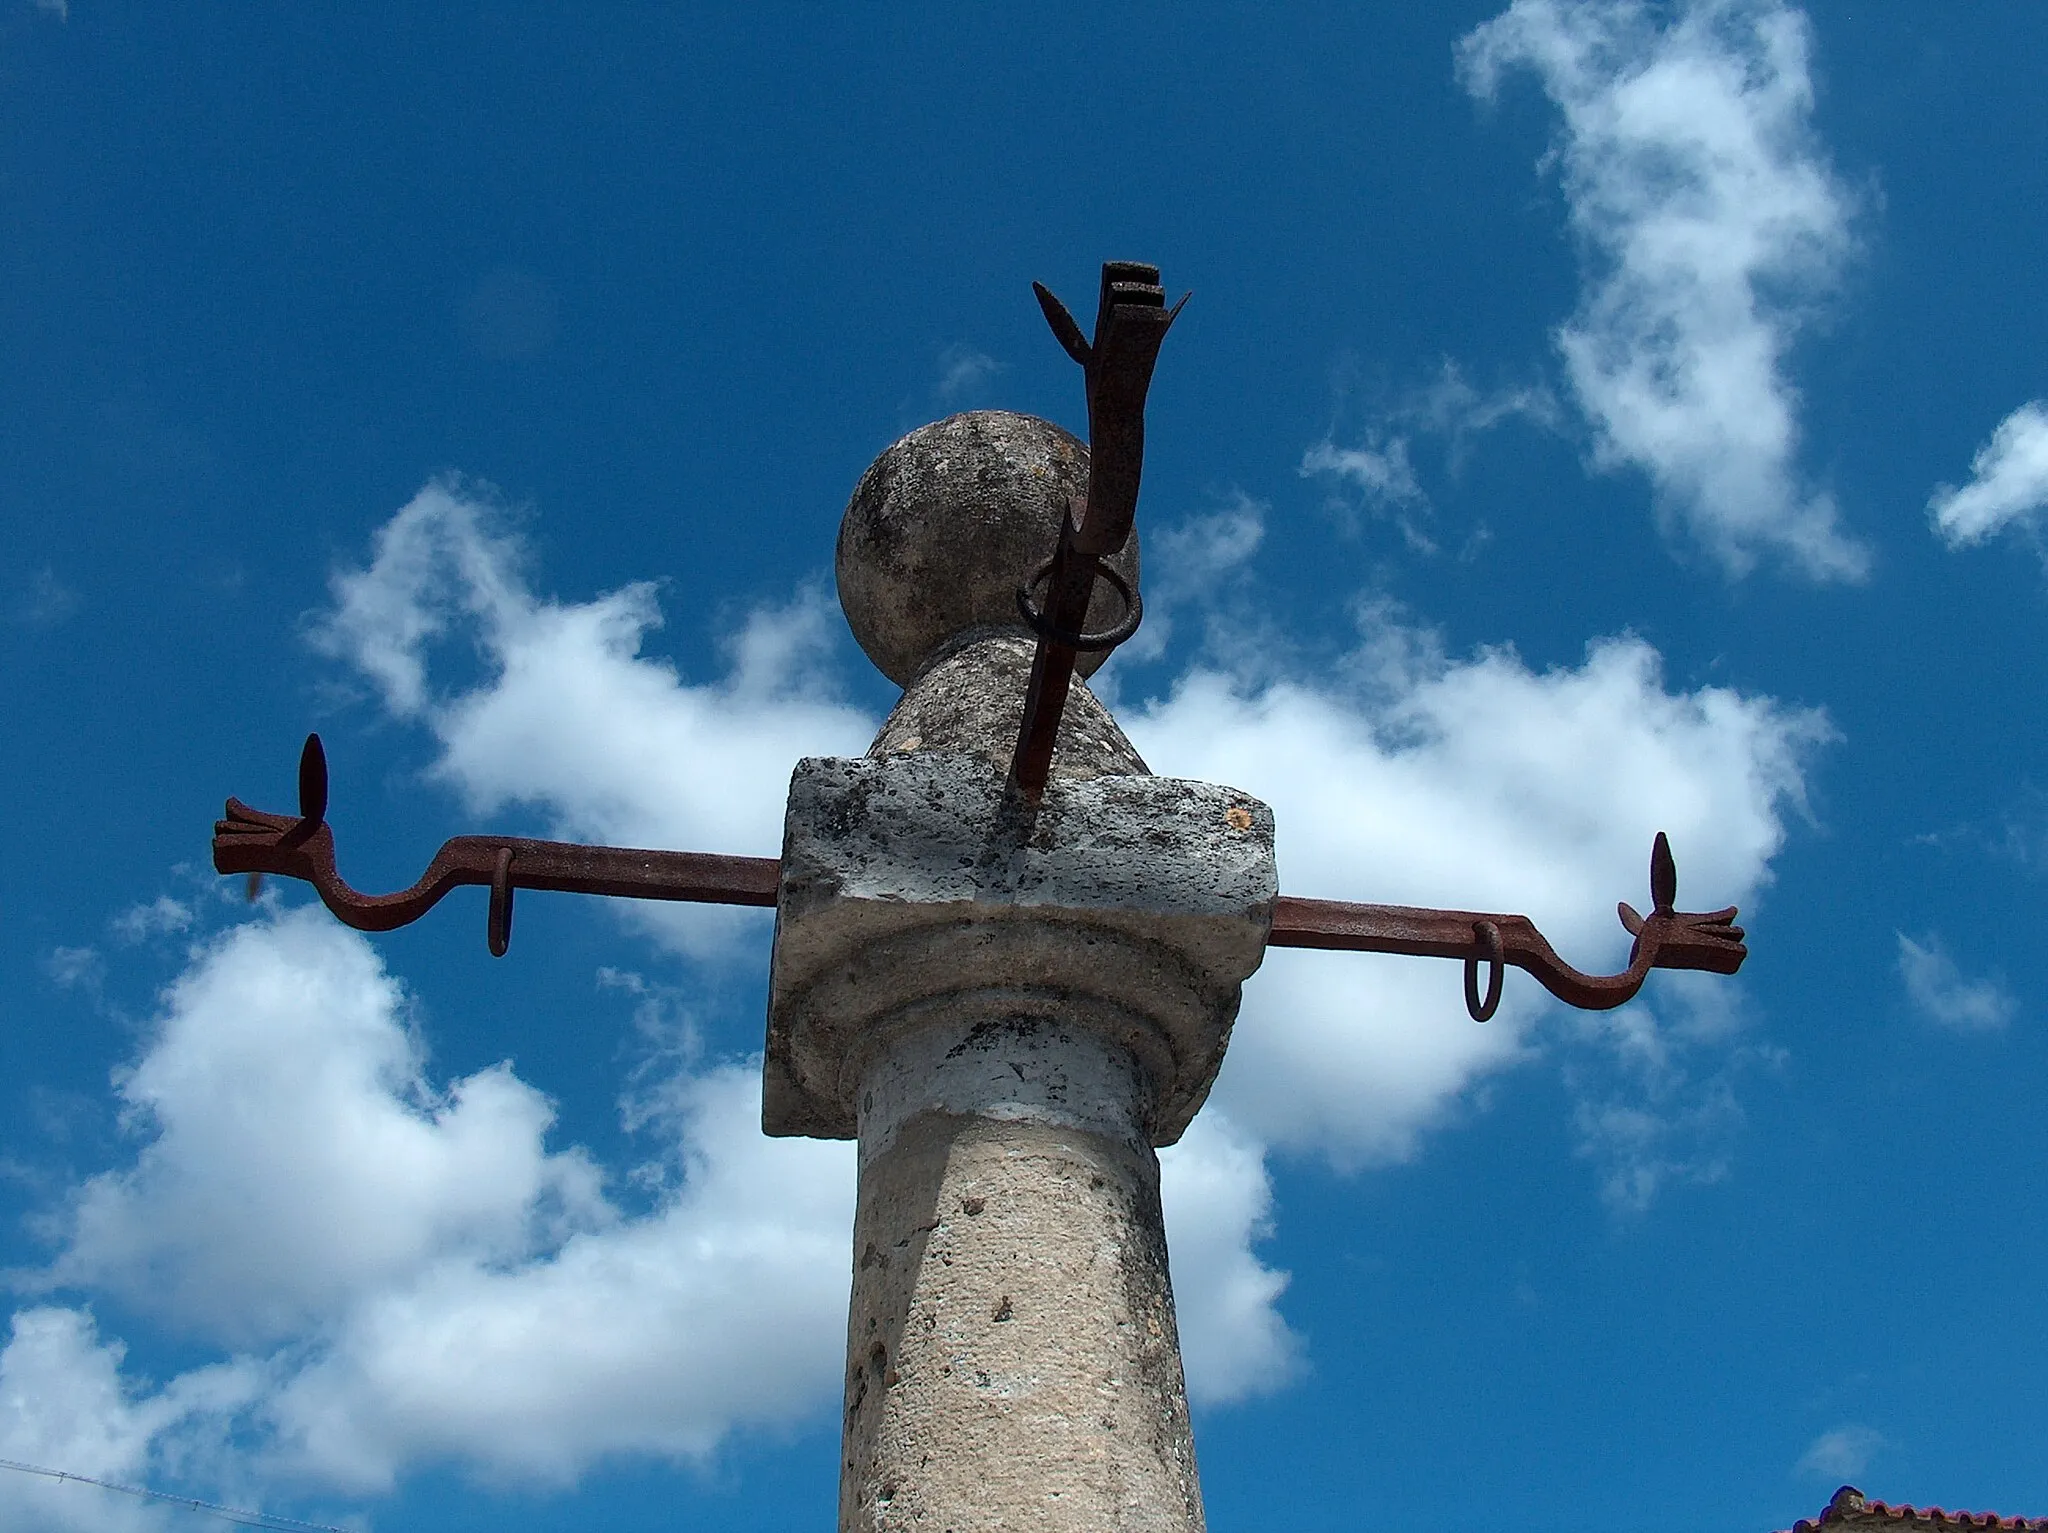
[[[1145, 395], [1165, 332], [1188, 299], [1165, 307], [1159, 268], [1112, 260], [1102, 264], [1096, 338], [1090, 342], [1042, 282], [1032, 282], [1047, 323], [1087, 381], [1087, 497], [1069, 506], [1059, 544], [1018, 589], [1018, 610], [1038, 632], [1010, 782], [1038, 802], [1053, 770], [1059, 718], [1081, 651], [1114, 649], [1139, 628], [1139, 594], [1104, 563], [1130, 540], [1145, 473]], [[1083, 632], [1096, 581], [1106, 579], [1122, 598], [1122, 618], [1104, 632]], [[1044, 596], [1034, 592], [1044, 587]]]

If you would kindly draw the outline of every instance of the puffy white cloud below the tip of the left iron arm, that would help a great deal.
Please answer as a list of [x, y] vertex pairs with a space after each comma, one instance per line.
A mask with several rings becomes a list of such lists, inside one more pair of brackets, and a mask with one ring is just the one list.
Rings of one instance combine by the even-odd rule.
[[543, 1148], [541, 1093], [506, 1066], [434, 1089], [424, 1064], [399, 984], [324, 909], [227, 931], [117, 1081], [150, 1140], [80, 1189], [53, 1281], [274, 1343], [424, 1263], [608, 1218], [596, 1167]]

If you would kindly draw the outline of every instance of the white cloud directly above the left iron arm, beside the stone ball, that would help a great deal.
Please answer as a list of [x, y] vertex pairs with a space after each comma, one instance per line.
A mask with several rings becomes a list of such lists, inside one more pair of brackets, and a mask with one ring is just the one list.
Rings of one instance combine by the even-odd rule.
[[[662, 626], [651, 583], [590, 602], [537, 598], [496, 506], [444, 481], [377, 532], [369, 569], [336, 575], [313, 643], [356, 665], [395, 716], [434, 733], [434, 774], [475, 815], [524, 804], [578, 841], [772, 856], [797, 759], [858, 755], [874, 733], [819, 680], [834, 618], [831, 600], [807, 587], [737, 628], [723, 680], [684, 682], [639, 653]], [[436, 690], [434, 647], [457, 639], [483, 675]], [[338, 833], [346, 858], [348, 827]], [[698, 956], [727, 948], [748, 919], [627, 911]]]

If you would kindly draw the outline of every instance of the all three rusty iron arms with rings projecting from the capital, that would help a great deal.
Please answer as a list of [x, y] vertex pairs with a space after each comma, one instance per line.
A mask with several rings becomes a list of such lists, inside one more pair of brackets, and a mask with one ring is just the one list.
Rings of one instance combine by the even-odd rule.
[[[1085, 499], [1067, 508], [1053, 557], [1018, 587], [1018, 610], [1038, 634], [1010, 768], [1010, 788], [1024, 806], [1036, 804], [1044, 792], [1077, 657], [1114, 649], [1139, 626], [1139, 594], [1108, 561], [1130, 538], [1145, 467], [1145, 395], [1159, 346], [1180, 313], [1180, 305], [1165, 307], [1159, 268], [1137, 262], [1104, 264], [1094, 340], [1044, 287], [1034, 282], [1032, 289], [1053, 334], [1083, 368], [1090, 473]], [[1122, 614], [1108, 628], [1087, 632], [1098, 581], [1116, 594]], [[358, 931], [408, 925], [449, 890], [481, 884], [489, 888], [485, 933], [494, 956], [504, 956], [512, 939], [512, 896], [520, 888], [774, 907], [780, 882], [776, 858], [459, 835], [434, 853], [412, 888], [360, 894], [336, 872], [328, 759], [317, 735], [307, 737], [299, 757], [299, 813], [266, 815], [229, 798], [225, 819], [213, 829], [213, 866], [223, 874], [301, 878]], [[1735, 907], [1688, 913], [1673, 909], [1675, 896], [1671, 847], [1659, 833], [1651, 849], [1651, 913], [1638, 915], [1626, 903], [1618, 907], [1622, 925], [1634, 937], [1628, 966], [1618, 974], [1583, 974], [1556, 956], [1526, 915], [1483, 911], [1282, 894], [1268, 944], [1464, 960], [1464, 1003], [1477, 1021], [1497, 1011], [1509, 964], [1534, 974], [1561, 1001], [1604, 1011], [1634, 997], [1653, 968], [1733, 974], [1743, 966], [1749, 950], [1743, 929], [1735, 925]], [[1481, 966], [1487, 968], [1483, 993]]]

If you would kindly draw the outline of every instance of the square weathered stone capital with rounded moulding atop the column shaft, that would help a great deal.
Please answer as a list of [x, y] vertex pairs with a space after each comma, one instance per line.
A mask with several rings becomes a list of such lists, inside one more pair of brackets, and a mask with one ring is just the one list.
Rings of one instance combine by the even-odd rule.
[[1272, 811], [1235, 788], [1055, 778], [920, 751], [809, 757], [782, 831], [762, 1128], [854, 1138], [854, 1093], [895, 1030], [1061, 1019], [1139, 1058], [1171, 1144], [1223, 1062], [1266, 954]]

